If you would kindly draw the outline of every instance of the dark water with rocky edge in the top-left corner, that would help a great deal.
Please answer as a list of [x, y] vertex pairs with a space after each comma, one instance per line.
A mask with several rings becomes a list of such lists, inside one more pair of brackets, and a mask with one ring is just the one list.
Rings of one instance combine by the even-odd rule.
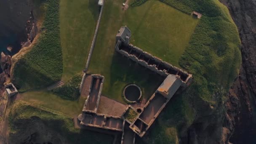
[[[0, 0], [0, 52], [14, 55], [19, 52], [21, 42], [27, 39], [32, 42], [35, 38], [37, 28], [32, 9], [32, 0]], [[11, 52], [5, 49], [8, 46], [12, 47]]]

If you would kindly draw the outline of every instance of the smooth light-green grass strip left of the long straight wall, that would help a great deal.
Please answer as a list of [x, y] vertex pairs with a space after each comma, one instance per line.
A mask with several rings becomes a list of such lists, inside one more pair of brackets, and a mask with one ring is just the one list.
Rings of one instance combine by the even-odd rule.
[[95, 0], [61, 0], [62, 80], [67, 81], [84, 69], [98, 15]]

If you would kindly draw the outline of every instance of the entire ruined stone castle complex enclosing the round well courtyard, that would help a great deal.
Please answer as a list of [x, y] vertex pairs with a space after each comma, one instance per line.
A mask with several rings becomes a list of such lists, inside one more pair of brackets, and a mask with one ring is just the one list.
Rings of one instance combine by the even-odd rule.
[[[138, 107], [139, 111], [131, 105], [126, 105], [126, 109], [120, 112], [123, 112], [122, 115], [108, 115], [106, 113], [102, 114], [98, 109], [100, 106], [99, 101], [102, 97], [101, 91], [104, 86], [104, 76], [85, 74], [91, 78], [82, 80], [81, 85], [85, 85], [83, 87], [85, 90], [80, 90], [88, 91], [82, 114], [78, 116], [80, 125], [122, 132], [121, 144], [134, 144], [135, 133], [140, 137], [144, 136], [176, 91], [178, 89], [183, 90], [192, 82], [191, 74], [130, 44], [130, 39], [131, 30], [126, 26], [121, 27], [116, 35], [115, 51], [135, 61], [142, 67], [146, 67], [148, 70], [165, 77], [163, 83], [152, 94], [149, 101], [144, 106]], [[85, 75], [84, 77], [87, 79]], [[90, 83], [85, 83], [86, 81]], [[119, 109], [119, 107], [116, 109]], [[133, 113], [132, 118], [127, 117], [129, 113]]]

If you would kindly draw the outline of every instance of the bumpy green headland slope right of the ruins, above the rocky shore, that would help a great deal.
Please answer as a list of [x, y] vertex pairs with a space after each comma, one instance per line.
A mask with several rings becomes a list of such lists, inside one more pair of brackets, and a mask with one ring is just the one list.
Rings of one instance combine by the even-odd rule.
[[[198, 117], [209, 115], [208, 112], [215, 115], [214, 111], [219, 111], [218, 107], [221, 106], [218, 104], [222, 104], [241, 63], [240, 39], [227, 8], [218, 0], [164, 2], [185, 13], [192, 10], [203, 13], [179, 61], [181, 67], [193, 74], [194, 82], [187, 91], [170, 101], [156, 123], [155, 127], [161, 128], [153, 129], [150, 133], [152, 142], [177, 143], [176, 135], [168, 133], [168, 128], [180, 132], [181, 128], [192, 124], [196, 114]], [[209, 105], [212, 107], [210, 111]]]

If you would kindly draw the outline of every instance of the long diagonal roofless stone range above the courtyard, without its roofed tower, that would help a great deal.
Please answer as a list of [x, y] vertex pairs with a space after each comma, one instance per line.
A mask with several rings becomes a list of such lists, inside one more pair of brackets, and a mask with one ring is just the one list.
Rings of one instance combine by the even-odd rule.
[[153, 56], [146, 51], [141, 50], [140, 48], [132, 45], [125, 44], [121, 40], [118, 40], [115, 45], [115, 50], [121, 55], [139, 63], [143, 67], [156, 72], [159, 75], [166, 77], [167, 75], [179, 75], [183, 84], [182, 86], [186, 87], [192, 82], [192, 75], [184, 72], [183, 70], [174, 67], [162, 59]]

